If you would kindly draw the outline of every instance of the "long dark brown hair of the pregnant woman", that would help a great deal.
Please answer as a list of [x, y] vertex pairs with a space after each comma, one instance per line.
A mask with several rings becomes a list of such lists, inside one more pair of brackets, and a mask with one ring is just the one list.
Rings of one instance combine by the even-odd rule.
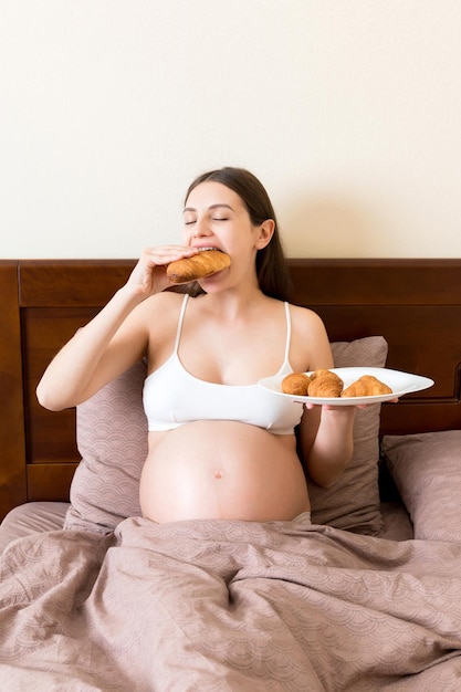
[[256, 253], [256, 275], [261, 291], [280, 301], [290, 300], [290, 274], [279, 233], [275, 211], [264, 186], [244, 168], [227, 166], [198, 176], [189, 186], [186, 200], [201, 182], [220, 182], [239, 195], [247, 207], [253, 226], [273, 219], [275, 229], [271, 241]]

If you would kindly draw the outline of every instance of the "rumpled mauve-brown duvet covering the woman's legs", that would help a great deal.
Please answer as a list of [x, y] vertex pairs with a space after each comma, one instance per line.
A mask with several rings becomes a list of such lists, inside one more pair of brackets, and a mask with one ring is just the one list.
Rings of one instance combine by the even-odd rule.
[[0, 689], [461, 689], [461, 544], [307, 522], [53, 531], [0, 559]]

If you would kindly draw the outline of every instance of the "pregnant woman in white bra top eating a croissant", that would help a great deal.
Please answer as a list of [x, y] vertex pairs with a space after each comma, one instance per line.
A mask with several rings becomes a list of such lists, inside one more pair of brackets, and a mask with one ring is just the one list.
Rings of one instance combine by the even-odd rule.
[[[210, 250], [222, 254], [217, 265]], [[193, 279], [196, 261], [197, 281], [171, 290]], [[144, 516], [307, 518], [306, 479], [328, 486], [350, 460], [355, 407], [306, 408], [258, 386], [333, 367], [321, 318], [287, 302], [286, 272], [261, 182], [240, 168], [201, 175], [186, 195], [180, 244], [146, 249], [44, 373], [39, 401], [60, 410], [147, 358]]]

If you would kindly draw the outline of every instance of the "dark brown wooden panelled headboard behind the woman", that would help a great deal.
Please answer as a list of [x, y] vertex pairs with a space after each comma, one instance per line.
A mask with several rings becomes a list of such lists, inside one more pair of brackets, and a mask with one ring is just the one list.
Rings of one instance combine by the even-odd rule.
[[[461, 428], [461, 260], [290, 260], [293, 302], [331, 340], [381, 334], [388, 367], [434, 387], [384, 405], [381, 433]], [[133, 260], [0, 261], [0, 518], [34, 500], [69, 499], [80, 457], [75, 411], [52, 413], [36, 384], [59, 348], [108, 301]]]

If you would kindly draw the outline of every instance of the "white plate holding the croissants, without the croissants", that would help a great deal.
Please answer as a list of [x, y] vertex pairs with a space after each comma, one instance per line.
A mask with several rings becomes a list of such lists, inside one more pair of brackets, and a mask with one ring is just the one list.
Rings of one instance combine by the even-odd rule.
[[[392, 394], [378, 395], [376, 397], [301, 397], [282, 391], [283, 377], [264, 377], [258, 382], [260, 387], [269, 389], [281, 397], [287, 397], [292, 401], [301, 401], [303, 403], [317, 403], [323, 406], [362, 406], [369, 403], [381, 403], [391, 399], [399, 399], [406, 394], [421, 391], [432, 387], [433, 379], [422, 377], [421, 375], [412, 375], [411, 373], [401, 373], [400, 370], [390, 370], [388, 368], [331, 368], [332, 373], [336, 373], [344, 381], [344, 388], [348, 387], [363, 375], [374, 375], [381, 382], [391, 388]], [[310, 375], [311, 373], [307, 373]]]

